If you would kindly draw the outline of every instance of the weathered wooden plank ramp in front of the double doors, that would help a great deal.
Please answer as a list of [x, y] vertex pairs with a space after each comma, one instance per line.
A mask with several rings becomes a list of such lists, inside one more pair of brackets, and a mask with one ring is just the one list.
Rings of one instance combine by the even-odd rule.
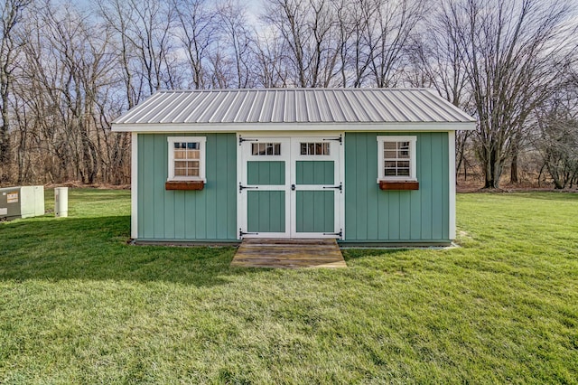
[[335, 239], [243, 239], [231, 266], [347, 268]]

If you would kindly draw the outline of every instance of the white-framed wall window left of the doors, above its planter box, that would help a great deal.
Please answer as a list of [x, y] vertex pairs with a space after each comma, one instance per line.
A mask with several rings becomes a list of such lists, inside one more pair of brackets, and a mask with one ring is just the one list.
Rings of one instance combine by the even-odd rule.
[[169, 137], [169, 181], [205, 179], [204, 136]]

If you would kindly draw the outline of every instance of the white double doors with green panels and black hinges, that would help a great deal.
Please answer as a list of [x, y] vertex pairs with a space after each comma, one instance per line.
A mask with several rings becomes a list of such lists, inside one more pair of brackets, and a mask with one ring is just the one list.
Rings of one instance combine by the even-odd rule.
[[238, 139], [239, 238], [342, 238], [342, 134]]

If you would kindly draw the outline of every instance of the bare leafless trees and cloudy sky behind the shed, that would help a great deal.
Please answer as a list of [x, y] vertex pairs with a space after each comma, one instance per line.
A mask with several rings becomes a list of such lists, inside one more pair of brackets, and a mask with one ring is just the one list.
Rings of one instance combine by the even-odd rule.
[[128, 183], [158, 89], [424, 87], [478, 119], [461, 177], [578, 183], [572, 1], [2, 0], [0, 184]]

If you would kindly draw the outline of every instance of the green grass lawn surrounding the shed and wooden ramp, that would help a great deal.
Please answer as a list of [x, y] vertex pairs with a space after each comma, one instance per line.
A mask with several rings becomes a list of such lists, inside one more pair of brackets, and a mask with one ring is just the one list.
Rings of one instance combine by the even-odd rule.
[[578, 194], [462, 194], [461, 248], [335, 270], [127, 246], [129, 200], [0, 223], [0, 383], [578, 379]]

